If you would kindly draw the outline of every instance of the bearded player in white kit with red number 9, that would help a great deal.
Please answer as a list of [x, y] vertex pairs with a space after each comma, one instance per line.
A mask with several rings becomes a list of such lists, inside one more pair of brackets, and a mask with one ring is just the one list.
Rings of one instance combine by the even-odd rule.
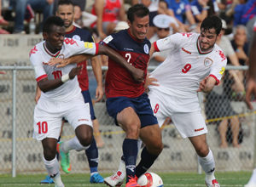
[[[151, 73], [159, 86], [149, 86], [148, 92], [160, 126], [166, 117], [171, 117], [182, 137], [189, 138], [206, 173], [205, 182], [211, 187], [219, 184], [214, 176], [215, 162], [207, 145], [207, 126], [197, 92], [210, 92], [224, 73], [227, 59], [215, 44], [221, 28], [217, 16], [207, 17], [201, 24], [201, 34], [177, 33], [154, 42], [151, 53], [166, 49], [172, 52]], [[104, 180], [111, 186], [121, 183], [123, 168], [121, 161], [119, 171]]]

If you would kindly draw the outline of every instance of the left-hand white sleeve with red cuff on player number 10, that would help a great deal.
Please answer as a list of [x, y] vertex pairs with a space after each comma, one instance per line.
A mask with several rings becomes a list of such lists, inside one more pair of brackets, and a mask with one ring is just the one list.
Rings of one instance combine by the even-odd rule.
[[42, 61], [42, 58], [40, 58], [40, 53], [38, 52], [37, 54], [31, 54], [29, 59], [34, 68], [35, 78], [36, 78], [37, 82], [46, 78], [47, 74], [44, 71], [43, 61]]

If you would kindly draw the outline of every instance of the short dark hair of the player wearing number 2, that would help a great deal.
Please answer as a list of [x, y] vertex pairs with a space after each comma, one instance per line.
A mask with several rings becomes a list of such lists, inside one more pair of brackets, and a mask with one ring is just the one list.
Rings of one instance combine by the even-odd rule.
[[127, 18], [132, 23], [134, 21], [134, 16], [137, 16], [139, 18], [143, 18], [147, 15], [149, 15], [148, 8], [143, 4], [135, 4], [131, 8], [128, 9], [127, 12]]

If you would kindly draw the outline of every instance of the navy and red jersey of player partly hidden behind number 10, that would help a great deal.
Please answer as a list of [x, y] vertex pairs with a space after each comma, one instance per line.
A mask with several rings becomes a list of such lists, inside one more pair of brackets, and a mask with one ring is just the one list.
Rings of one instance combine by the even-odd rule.
[[[84, 42], [94, 42], [91, 37], [90, 31], [80, 29], [79, 27], [74, 26], [72, 31], [68, 31], [65, 34], [65, 37], [70, 37], [73, 39], [81, 40]], [[84, 90], [89, 89], [88, 73], [86, 69], [86, 61], [80, 62], [78, 65], [82, 66], [81, 73], [78, 75], [79, 86]]]

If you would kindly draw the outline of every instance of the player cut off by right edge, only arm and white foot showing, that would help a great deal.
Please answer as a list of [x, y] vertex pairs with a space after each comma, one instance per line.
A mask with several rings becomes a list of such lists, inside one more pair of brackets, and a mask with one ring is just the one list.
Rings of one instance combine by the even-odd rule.
[[[253, 110], [253, 105], [251, 103], [251, 97], [256, 98], [256, 22], [253, 26], [253, 42], [250, 48], [249, 54], [249, 70], [247, 77], [247, 92], [246, 92], [246, 103], [249, 109]], [[256, 168], [253, 170], [253, 174], [249, 182], [245, 187], [256, 187]]]

